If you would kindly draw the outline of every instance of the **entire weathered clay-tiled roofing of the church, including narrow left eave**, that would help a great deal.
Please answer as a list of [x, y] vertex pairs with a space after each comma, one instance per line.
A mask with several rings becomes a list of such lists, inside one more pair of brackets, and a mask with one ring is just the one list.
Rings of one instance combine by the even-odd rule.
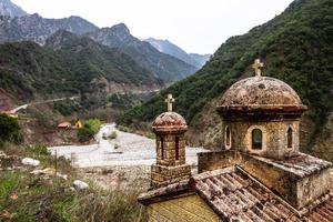
[[[193, 175], [139, 196], [143, 204], [196, 192], [225, 221], [232, 222], [332, 222], [333, 171], [331, 192], [296, 210], [239, 167], [230, 167]], [[190, 184], [190, 185], [189, 185]]]

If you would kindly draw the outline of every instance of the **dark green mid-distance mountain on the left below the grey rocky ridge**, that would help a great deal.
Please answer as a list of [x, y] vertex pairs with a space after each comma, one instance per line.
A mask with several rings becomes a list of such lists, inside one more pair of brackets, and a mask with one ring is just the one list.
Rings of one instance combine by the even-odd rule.
[[119, 49], [68, 31], [46, 42], [0, 46], [0, 88], [19, 101], [99, 92], [105, 97], [117, 87], [161, 88], [161, 80]]

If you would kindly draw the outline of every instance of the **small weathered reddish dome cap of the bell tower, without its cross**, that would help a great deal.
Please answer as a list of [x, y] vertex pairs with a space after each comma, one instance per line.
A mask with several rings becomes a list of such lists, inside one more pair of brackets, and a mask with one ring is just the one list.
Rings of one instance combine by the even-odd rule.
[[152, 129], [153, 131], [184, 131], [188, 124], [176, 112], [163, 112], [153, 121]]

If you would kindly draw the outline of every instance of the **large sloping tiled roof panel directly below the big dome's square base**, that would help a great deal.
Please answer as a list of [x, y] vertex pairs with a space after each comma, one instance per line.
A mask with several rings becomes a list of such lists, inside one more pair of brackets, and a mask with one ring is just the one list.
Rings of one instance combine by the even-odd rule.
[[222, 219], [286, 221], [296, 212], [235, 167], [201, 173], [190, 184]]

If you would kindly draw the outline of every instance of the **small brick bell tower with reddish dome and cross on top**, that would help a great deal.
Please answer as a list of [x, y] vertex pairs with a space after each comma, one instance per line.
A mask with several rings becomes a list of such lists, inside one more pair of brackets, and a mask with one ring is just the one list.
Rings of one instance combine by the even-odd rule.
[[174, 99], [165, 99], [168, 112], [152, 123], [157, 138], [157, 163], [151, 167], [151, 186], [159, 188], [191, 176], [191, 167], [185, 163], [185, 139], [188, 130], [183, 117], [172, 111]]

